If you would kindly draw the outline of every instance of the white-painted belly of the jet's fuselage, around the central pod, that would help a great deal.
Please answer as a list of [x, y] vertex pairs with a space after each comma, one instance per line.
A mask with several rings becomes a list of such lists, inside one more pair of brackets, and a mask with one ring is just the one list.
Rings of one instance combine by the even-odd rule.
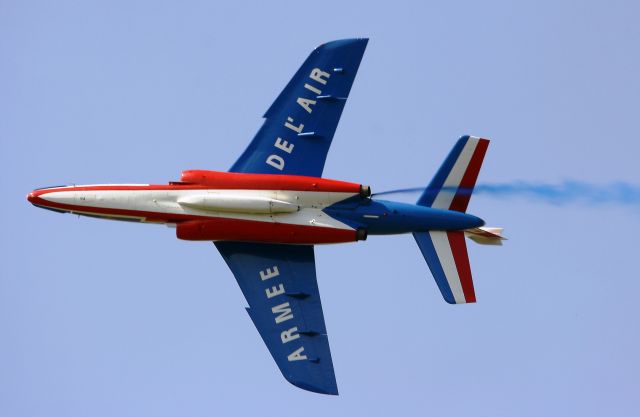
[[[118, 186], [116, 184], [111, 187]], [[86, 186], [94, 187], [94, 186]], [[105, 186], [106, 187], [106, 186]], [[40, 198], [59, 204], [70, 204], [86, 208], [145, 211], [162, 214], [181, 214], [212, 218], [229, 218], [261, 222], [288, 223], [336, 229], [353, 228], [330, 217], [322, 209], [339, 201], [353, 197], [354, 193], [316, 192], [316, 191], [275, 191], [275, 190], [154, 190], [140, 186], [139, 190], [64, 190], [42, 194]], [[295, 213], [253, 214], [212, 211], [187, 207], [178, 204], [178, 199], [206, 194], [223, 194], [239, 198], [270, 198], [300, 206]]]

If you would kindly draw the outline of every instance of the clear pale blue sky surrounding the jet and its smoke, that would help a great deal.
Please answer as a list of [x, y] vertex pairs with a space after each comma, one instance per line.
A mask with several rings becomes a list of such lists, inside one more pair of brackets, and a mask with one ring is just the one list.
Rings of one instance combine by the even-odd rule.
[[483, 183], [637, 185], [639, 11], [0, 1], [0, 415], [637, 415], [637, 205], [474, 196], [510, 240], [470, 242], [468, 306], [410, 236], [318, 248], [336, 398], [282, 378], [213, 245], [25, 196], [226, 170], [316, 45], [363, 36], [326, 177], [423, 185], [468, 133]]

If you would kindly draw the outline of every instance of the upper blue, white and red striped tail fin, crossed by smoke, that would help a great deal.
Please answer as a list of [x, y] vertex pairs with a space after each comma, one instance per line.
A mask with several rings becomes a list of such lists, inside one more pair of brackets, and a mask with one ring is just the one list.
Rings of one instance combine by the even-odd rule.
[[488, 139], [458, 139], [417, 204], [465, 212], [488, 146]]

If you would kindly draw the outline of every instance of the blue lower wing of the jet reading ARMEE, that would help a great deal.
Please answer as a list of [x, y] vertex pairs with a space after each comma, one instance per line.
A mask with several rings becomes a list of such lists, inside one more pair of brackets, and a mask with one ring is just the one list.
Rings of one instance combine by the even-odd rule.
[[302, 389], [337, 395], [313, 246], [214, 243], [284, 377]]

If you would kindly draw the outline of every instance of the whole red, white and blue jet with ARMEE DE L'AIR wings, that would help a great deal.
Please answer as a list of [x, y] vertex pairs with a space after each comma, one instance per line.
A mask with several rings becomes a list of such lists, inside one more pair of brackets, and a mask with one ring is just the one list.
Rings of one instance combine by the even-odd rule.
[[179, 239], [213, 241], [284, 377], [337, 395], [313, 245], [412, 233], [444, 299], [461, 304], [476, 301], [465, 234], [484, 244], [502, 239], [501, 229], [466, 213], [487, 139], [460, 138], [415, 205], [322, 178], [367, 41], [316, 48], [228, 172], [187, 170], [166, 185], [48, 187], [27, 199], [61, 213], [166, 223]]

